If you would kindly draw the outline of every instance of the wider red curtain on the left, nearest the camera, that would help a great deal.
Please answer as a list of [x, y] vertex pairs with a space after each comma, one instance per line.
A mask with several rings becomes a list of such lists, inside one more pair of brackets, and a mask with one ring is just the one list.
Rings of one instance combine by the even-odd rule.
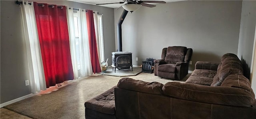
[[66, 6], [34, 2], [46, 87], [74, 79]]

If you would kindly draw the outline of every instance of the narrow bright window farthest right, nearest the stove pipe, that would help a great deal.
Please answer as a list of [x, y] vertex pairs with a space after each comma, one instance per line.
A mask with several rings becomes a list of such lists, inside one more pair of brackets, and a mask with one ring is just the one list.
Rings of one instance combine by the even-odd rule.
[[98, 15], [98, 34], [99, 34], [99, 51], [100, 51], [100, 62], [105, 62], [104, 55], [104, 40], [103, 40], [103, 25], [102, 15]]

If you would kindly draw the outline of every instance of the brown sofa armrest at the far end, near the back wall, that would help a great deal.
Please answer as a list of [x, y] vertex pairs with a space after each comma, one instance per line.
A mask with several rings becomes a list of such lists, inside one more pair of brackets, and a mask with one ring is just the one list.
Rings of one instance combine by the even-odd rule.
[[207, 69], [217, 71], [220, 62], [213, 61], [197, 61], [195, 64], [195, 69]]

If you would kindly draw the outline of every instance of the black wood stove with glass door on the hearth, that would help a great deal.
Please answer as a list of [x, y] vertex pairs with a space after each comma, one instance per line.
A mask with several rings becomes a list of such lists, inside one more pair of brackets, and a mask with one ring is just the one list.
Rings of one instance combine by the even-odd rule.
[[[131, 52], [112, 52], [112, 69], [130, 69], [132, 67], [132, 53]], [[133, 69], [132, 69], [133, 71]]]

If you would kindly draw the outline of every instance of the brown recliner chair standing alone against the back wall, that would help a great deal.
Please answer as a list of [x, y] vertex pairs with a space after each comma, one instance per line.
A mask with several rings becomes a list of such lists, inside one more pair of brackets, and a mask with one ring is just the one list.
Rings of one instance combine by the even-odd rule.
[[166, 79], [182, 79], [188, 74], [192, 52], [191, 48], [183, 46], [164, 48], [161, 59], [154, 60], [154, 74]]

